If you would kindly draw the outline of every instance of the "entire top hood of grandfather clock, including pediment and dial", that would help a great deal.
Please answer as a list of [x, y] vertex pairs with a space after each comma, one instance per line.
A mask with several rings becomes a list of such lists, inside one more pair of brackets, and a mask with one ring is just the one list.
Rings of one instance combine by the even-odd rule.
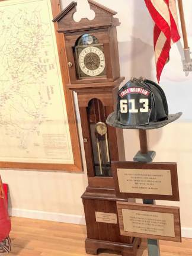
[[69, 89], [114, 88], [119, 84], [119, 51], [117, 41], [117, 12], [88, 0], [94, 11], [93, 20], [73, 19], [77, 2], [71, 2], [53, 22], [57, 32], [65, 36], [66, 57], [68, 60]]

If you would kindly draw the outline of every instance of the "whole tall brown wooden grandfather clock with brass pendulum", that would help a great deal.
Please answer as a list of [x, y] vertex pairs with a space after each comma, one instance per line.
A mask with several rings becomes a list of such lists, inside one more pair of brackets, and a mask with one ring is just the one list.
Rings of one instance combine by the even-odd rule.
[[[72, 2], [53, 20], [57, 32], [65, 35], [70, 84], [78, 95], [87, 162], [88, 187], [82, 195], [88, 254], [98, 249], [112, 249], [123, 256], [136, 255], [140, 239], [121, 236], [117, 218], [116, 197], [111, 161], [124, 160], [123, 133], [107, 126], [105, 120], [114, 109], [114, 91], [120, 77], [116, 26], [117, 12], [88, 0], [95, 12], [94, 20], [76, 22], [76, 2]], [[116, 89], [115, 89], [116, 88]]]

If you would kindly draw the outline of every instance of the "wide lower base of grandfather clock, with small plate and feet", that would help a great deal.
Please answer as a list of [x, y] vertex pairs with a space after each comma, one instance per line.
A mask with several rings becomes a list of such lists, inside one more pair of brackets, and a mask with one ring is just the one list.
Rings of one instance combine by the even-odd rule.
[[97, 255], [99, 249], [120, 252], [122, 256], [136, 256], [140, 239], [120, 235], [117, 219], [117, 201], [122, 199], [116, 194], [89, 193], [82, 195], [85, 220], [87, 224], [87, 239], [85, 248], [88, 254]]

